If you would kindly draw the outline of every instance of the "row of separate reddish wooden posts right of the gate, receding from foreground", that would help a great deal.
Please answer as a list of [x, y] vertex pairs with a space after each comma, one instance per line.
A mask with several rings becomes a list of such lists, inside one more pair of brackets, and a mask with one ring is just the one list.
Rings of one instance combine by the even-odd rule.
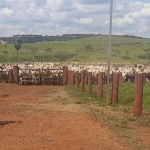
[[[84, 72], [81, 71], [81, 80], [79, 80], [79, 72], [75, 72], [75, 87], [79, 88], [80, 90], [84, 91], [84, 84], [87, 84], [87, 93], [92, 93], [92, 81], [96, 81], [96, 79], [92, 79], [92, 72]], [[78, 76], [78, 77], [77, 77]], [[103, 72], [99, 72], [97, 78], [97, 96], [103, 96]], [[134, 92], [134, 108], [133, 114], [134, 116], [140, 116], [142, 114], [142, 99], [143, 99], [143, 83], [145, 81], [145, 76], [143, 73], [136, 74], [135, 76], [135, 92]], [[118, 102], [118, 92], [119, 92], [119, 84], [123, 82], [122, 80], [122, 73], [114, 72], [112, 74], [112, 103]]]

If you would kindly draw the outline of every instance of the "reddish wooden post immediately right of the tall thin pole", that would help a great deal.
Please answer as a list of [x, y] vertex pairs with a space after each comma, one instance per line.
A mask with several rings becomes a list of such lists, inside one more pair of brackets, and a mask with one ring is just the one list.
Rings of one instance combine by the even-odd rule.
[[118, 90], [119, 90], [119, 73], [112, 74], [112, 103], [118, 102]]

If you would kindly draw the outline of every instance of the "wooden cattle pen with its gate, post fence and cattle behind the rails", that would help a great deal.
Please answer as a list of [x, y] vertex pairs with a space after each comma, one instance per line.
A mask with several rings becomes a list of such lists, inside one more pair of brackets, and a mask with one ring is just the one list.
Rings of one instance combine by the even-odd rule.
[[[92, 84], [95, 84], [97, 85], [97, 96], [102, 97], [104, 95], [103, 84], [106, 84], [108, 78], [106, 74], [107, 70], [104, 67], [95, 67], [95, 70], [79, 65], [51, 65], [51, 67], [44, 67], [21, 68], [21, 66], [13, 65], [9, 69], [1, 69], [0, 82], [20, 85], [75, 85], [81, 91], [84, 90], [84, 85], [87, 85], [87, 93], [92, 93]], [[142, 114], [143, 84], [149, 82], [149, 72], [137, 72], [138, 69], [143, 69], [141, 65], [134, 68], [132, 66], [132, 69], [128, 68], [128, 72], [126, 73], [117, 68], [119, 66], [111, 68], [112, 72], [109, 77], [109, 81], [112, 84], [110, 103], [118, 102], [119, 84], [134, 83], [134, 115], [139, 116]]]

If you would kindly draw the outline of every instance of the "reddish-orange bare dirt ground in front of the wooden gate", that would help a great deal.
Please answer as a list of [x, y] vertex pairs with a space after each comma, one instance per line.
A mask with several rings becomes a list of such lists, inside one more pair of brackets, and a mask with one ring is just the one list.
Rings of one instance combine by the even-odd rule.
[[131, 150], [89, 114], [64, 87], [0, 84], [0, 150]]

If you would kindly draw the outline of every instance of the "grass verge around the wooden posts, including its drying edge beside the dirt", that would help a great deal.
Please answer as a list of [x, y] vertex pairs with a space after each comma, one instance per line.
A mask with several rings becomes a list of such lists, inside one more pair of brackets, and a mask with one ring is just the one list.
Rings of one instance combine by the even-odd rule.
[[[143, 88], [143, 117], [147, 118], [150, 114], [150, 84], [144, 84]], [[85, 104], [97, 104], [98, 107], [109, 107], [112, 111], [121, 111], [122, 113], [133, 116], [133, 103], [134, 103], [134, 84], [122, 83], [119, 85], [118, 103], [106, 105], [106, 84], [103, 86], [103, 96], [97, 97], [97, 85], [92, 85], [92, 93], [87, 93], [87, 85], [84, 86], [84, 91], [80, 91], [80, 88], [75, 86], [66, 86], [66, 90], [72, 96], [77, 97], [82, 103]], [[110, 101], [111, 101], [111, 86], [110, 86]], [[150, 117], [148, 117], [150, 119]], [[130, 121], [137, 119], [129, 117]], [[145, 119], [140, 121], [140, 124], [147, 124], [150, 126], [150, 121]]]

